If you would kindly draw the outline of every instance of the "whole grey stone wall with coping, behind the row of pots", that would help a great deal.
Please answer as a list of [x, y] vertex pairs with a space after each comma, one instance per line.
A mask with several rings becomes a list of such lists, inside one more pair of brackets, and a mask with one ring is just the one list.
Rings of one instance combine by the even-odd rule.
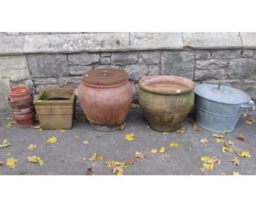
[[256, 33], [0, 33], [0, 109], [10, 87], [77, 87], [83, 72], [103, 67], [133, 83], [150, 75], [224, 83], [255, 101]]

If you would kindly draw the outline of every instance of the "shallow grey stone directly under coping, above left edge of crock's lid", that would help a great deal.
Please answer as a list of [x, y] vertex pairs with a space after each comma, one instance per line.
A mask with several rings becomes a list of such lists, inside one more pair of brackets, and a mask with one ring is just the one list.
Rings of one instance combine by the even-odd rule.
[[75, 64], [90, 65], [100, 62], [100, 56], [97, 53], [78, 53], [68, 55], [68, 60]]

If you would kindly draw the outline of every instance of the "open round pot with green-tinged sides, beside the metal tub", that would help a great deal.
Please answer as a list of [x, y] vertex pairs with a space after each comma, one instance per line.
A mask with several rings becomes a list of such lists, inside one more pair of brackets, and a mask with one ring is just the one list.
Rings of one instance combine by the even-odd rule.
[[195, 83], [184, 77], [149, 76], [139, 81], [138, 101], [151, 129], [173, 132], [194, 105]]

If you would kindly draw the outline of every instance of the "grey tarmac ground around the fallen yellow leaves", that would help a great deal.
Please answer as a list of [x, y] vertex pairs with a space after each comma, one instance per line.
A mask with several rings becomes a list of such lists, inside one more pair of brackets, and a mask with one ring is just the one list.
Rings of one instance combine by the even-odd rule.
[[[21, 172], [25, 172], [25, 175], [87, 175], [87, 168], [92, 168], [95, 175], [114, 175], [112, 168], [107, 168], [104, 162], [131, 160], [136, 151], [147, 154], [148, 158], [137, 158], [135, 164], [124, 170], [125, 175], [219, 175], [222, 172], [226, 175], [232, 175], [232, 172], [256, 175], [256, 124], [246, 124], [247, 119], [242, 116], [235, 130], [224, 135], [224, 140], [232, 140], [235, 143], [231, 146], [234, 152], [222, 152], [224, 145], [214, 140], [213, 132], [201, 128], [200, 131], [193, 130], [189, 120], [194, 120], [194, 111], [183, 121], [183, 126], [187, 126], [183, 134], [163, 134], [151, 130], [139, 108], [131, 110], [124, 130], [112, 132], [96, 131], [87, 120], [75, 121], [73, 129], [63, 133], [57, 130], [20, 129], [15, 124], [6, 128], [5, 125], [11, 121], [5, 119], [8, 117], [11, 117], [9, 112], [1, 113], [0, 142], [8, 139], [13, 145], [0, 148], [0, 161], [4, 162], [4, 165], [0, 166], [0, 175], [18, 175]], [[36, 125], [38, 124], [37, 121]], [[126, 140], [126, 133], [135, 133], [135, 139]], [[238, 134], [243, 134], [245, 142], [236, 138]], [[46, 140], [53, 136], [58, 141], [47, 143]], [[210, 143], [203, 144], [201, 139], [207, 139]], [[88, 144], [83, 144], [84, 140], [88, 140]], [[179, 146], [168, 146], [171, 142], [177, 142]], [[30, 144], [36, 144], [37, 148], [27, 149]], [[165, 153], [150, 153], [151, 149], [159, 150], [162, 146]], [[188, 151], [188, 148], [192, 151]], [[252, 157], [238, 157], [236, 151], [249, 151]], [[10, 156], [6, 155], [8, 152], [11, 153]], [[104, 160], [88, 161], [93, 152], [102, 155]], [[42, 158], [43, 166], [27, 161], [28, 156], [35, 155]], [[199, 168], [203, 164], [200, 160], [202, 156], [219, 157], [222, 164], [214, 166], [214, 170], [207, 169], [205, 173], [201, 173]], [[241, 161], [239, 166], [233, 166], [229, 161], [234, 156]], [[19, 160], [13, 169], [5, 165], [10, 157]], [[95, 166], [92, 166], [94, 163]]]

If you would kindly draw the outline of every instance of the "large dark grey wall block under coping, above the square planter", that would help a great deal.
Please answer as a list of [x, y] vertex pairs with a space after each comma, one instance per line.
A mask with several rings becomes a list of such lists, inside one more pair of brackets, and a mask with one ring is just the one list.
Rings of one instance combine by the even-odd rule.
[[68, 75], [67, 57], [63, 54], [43, 54], [28, 56], [33, 77], [54, 77]]

